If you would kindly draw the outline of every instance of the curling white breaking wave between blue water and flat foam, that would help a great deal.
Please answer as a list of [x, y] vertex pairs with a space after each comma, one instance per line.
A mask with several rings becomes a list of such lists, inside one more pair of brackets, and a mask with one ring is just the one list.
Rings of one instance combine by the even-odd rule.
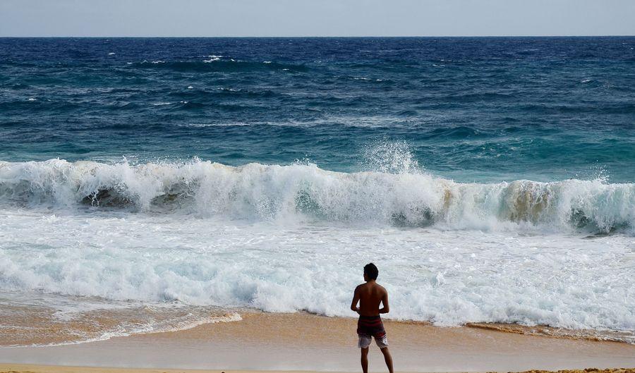
[[635, 184], [455, 183], [413, 169], [339, 173], [314, 164], [50, 159], [0, 162], [0, 205], [124, 208], [250, 221], [633, 233]]

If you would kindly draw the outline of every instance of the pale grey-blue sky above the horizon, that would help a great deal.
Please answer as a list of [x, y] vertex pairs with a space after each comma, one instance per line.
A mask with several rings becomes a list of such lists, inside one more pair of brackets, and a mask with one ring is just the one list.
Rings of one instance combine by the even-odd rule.
[[0, 37], [635, 35], [635, 0], [0, 0]]

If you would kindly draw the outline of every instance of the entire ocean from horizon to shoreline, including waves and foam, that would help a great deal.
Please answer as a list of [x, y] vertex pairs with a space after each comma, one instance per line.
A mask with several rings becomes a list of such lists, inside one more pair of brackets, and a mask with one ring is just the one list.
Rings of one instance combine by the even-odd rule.
[[635, 343], [635, 37], [0, 38], [0, 345], [348, 316]]

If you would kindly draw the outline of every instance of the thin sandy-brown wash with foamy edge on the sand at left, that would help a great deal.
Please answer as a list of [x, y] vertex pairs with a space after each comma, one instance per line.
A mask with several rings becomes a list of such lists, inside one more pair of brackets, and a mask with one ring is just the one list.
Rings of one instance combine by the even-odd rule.
[[57, 346], [117, 336], [192, 329], [236, 322], [241, 316], [217, 307], [178, 302], [147, 304], [97, 297], [0, 292], [0, 347]]

